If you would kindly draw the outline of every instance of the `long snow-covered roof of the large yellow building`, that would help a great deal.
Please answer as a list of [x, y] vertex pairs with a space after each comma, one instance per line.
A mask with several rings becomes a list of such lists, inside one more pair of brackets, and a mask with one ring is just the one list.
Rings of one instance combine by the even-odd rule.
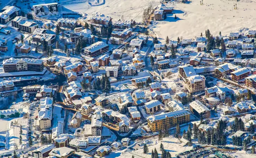
[[190, 113], [187, 112], [186, 110], [178, 110], [178, 111], [175, 111], [175, 112], [169, 112], [169, 113], [161, 113], [159, 115], [151, 115], [149, 117], [147, 117], [147, 119], [150, 121], [150, 122], [154, 122], [154, 121], [157, 121], [157, 120], [163, 120], [165, 119], [166, 117], [180, 117], [180, 116], [184, 116], [184, 115], [189, 115]]

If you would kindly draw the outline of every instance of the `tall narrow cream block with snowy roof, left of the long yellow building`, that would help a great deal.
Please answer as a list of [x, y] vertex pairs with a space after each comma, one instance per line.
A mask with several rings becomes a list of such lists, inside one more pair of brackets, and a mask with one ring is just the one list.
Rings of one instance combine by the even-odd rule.
[[102, 116], [101, 115], [92, 115], [92, 135], [101, 136], [102, 131]]

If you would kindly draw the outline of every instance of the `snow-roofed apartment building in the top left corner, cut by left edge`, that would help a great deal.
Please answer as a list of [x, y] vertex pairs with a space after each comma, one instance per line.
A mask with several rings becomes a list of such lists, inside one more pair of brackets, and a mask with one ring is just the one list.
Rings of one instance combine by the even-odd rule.
[[9, 22], [11, 19], [19, 15], [19, 8], [15, 6], [5, 6], [1, 9], [0, 13], [0, 23], [5, 24]]

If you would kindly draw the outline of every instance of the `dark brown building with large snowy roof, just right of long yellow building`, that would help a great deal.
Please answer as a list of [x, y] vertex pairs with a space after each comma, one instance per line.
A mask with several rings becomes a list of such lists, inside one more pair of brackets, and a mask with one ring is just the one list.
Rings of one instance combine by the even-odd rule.
[[209, 118], [210, 110], [202, 102], [195, 100], [189, 104], [190, 111], [199, 118]]

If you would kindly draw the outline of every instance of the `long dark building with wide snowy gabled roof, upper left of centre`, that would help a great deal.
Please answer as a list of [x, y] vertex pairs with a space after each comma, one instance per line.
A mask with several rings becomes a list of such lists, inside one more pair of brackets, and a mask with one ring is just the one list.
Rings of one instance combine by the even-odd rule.
[[91, 44], [90, 46], [83, 48], [82, 53], [87, 56], [94, 57], [94, 56], [100, 55], [102, 53], [105, 53], [108, 50], [109, 50], [108, 44], [99, 41], [99, 42]]

